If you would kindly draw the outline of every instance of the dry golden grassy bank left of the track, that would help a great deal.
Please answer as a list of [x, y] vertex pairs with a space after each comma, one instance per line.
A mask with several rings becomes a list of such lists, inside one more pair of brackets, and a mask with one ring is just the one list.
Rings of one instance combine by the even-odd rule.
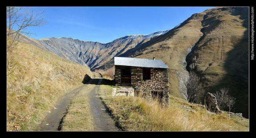
[[19, 62], [7, 72], [7, 131], [34, 130], [59, 97], [83, 85], [86, 74], [92, 77], [88, 67], [26, 43], [13, 52]]

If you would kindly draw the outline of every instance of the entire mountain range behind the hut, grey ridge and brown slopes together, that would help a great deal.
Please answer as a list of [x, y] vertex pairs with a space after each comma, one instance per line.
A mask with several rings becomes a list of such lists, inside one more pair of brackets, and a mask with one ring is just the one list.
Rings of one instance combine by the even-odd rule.
[[[169, 67], [170, 93], [179, 92], [181, 78], [194, 70], [205, 93], [229, 88], [235, 112], [248, 117], [248, 7], [218, 7], [195, 13], [171, 30], [128, 35], [112, 42], [48, 38], [27, 41], [56, 55], [87, 64], [92, 70], [114, 56], [161, 59]], [[203, 99], [202, 99], [203, 101]]]

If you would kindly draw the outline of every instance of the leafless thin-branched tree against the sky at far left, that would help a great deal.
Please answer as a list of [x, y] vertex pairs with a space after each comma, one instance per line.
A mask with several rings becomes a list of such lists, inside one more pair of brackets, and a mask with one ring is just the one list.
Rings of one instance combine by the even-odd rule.
[[6, 70], [9, 72], [7, 75], [14, 71], [19, 62], [15, 49], [18, 46], [20, 35], [22, 33], [26, 35], [33, 34], [27, 30], [28, 27], [43, 26], [47, 22], [44, 21], [45, 17], [41, 17], [41, 14], [43, 13], [43, 10], [35, 12], [33, 9], [30, 10], [30, 8], [6, 8]]

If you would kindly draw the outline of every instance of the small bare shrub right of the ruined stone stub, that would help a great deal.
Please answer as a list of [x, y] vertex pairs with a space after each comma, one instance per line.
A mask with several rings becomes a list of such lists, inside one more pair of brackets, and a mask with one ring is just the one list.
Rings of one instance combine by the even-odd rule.
[[228, 109], [229, 112], [235, 104], [236, 98], [228, 94], [229, 89], [221, 88], [220, 92], [216, 91], [213, 95], [216, 97], [220, 110]]

